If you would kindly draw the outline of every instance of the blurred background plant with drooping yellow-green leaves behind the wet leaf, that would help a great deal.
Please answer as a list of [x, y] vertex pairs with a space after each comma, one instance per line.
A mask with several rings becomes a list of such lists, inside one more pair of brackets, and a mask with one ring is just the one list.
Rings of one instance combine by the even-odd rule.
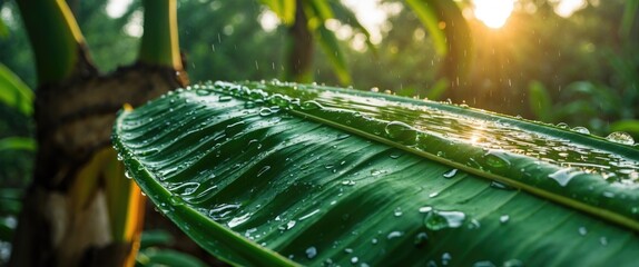
[[[364, 33], [367, 47], [375, 51], [366, 28], [341, 1], [262, 0], [262, 2], [268, 6], [289, 30], [284, 80], [313, 81], [313, 40], [317, 40], [340, 82], [352, 83], [345, 56], [335, 34], [325, 26], [330, 19], [340, 19], [341, 22]], [[406, 0], [406, 4], [431, 33], [436, 52], [444, 57], [442, 81], [446, 83], [452, 80], [459, 81], [468, 71], [472, 47], [470, 29], [460, 8], [453, 1]]]

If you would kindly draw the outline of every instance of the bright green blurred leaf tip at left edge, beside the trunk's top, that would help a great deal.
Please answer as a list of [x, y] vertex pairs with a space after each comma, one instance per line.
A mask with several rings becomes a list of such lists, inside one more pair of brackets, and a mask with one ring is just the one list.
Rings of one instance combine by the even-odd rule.
[[0, 102], [30, 116], [33, 91], [4, 65], [0, 63]]

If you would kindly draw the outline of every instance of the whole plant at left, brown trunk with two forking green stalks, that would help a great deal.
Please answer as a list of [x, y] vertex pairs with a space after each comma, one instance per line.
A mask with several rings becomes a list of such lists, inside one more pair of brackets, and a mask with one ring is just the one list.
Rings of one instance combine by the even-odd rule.
[[38, 141], [32, 185], [13, 234], [13, 266], [132, 265], [144, 198], [109, 146], [115, 111], [146, 102], [186, 76], [176, 1], [144, 1], [139, 60], [100, 75], [67, 3], [17, 1], [36, 58]]

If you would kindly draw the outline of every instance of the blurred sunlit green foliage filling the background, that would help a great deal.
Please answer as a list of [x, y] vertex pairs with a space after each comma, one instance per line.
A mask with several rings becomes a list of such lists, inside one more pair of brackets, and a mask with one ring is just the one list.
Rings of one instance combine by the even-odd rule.
[[[101, 69], [115, 70], [135, 59], [142, 21], [139, 1], [119, 14], [107, 12], [109, 1], [68, 2]], [[470, 1], [459, 2], [468, 14]], [[597, 135], [625, 130], [639, 138], [639, 109], [635, 108], [639, 103], [639, 53], [633, 50], [639, 27], [637, 19], [623, 21], [625, 10], [632, 8], [627, 2], [632, 1], [589, 0], [569, 17], [554, 12], [559, 2], [519, 0], [507, 24], [497, 30], [469, 16], [472, 66], [466, 77], [451, 81], [440, 79], [441, 58], [403, 1], [380, 1], [389, 18], [380, 26], [375, 52], [352, 27], [334, 20], [326, 23], [342, 41], [354, 88], [451, 98], [529, 119], [584, 126]], [[7, 29], [0, 30], [0, 62], [33, 88], [33, 60], [14, 2], [1, 2], [0, 18]], [[287, 30], [269, 24], [272, 18], [255, 0], [179, 1], [180, 47], [190, 79], [281, 77]], [[338, 85], [330, 62], [316, 50], [316, 81]], [[455, 93], [445, 90], [451, 85]], [[29, 116], [0, 105], [0, 140], [32, 135]], [[0, 188], [28, 185], [32, 157], [32, 150], [0, 150]], [[0, 195], [3, 199], [19, 196], [10, 190]], [[2, 210], [0, 225], [14, 227], [11, 210]], [[7, 257], [6, 246], [0, 243], [0, 261]]]

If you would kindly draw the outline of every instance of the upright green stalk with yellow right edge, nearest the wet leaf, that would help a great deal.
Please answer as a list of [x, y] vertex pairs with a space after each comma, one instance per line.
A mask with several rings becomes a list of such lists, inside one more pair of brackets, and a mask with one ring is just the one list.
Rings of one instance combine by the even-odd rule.
[[145, 33], [139, 61], [181, 70], [176, 0], [144, 0]]

